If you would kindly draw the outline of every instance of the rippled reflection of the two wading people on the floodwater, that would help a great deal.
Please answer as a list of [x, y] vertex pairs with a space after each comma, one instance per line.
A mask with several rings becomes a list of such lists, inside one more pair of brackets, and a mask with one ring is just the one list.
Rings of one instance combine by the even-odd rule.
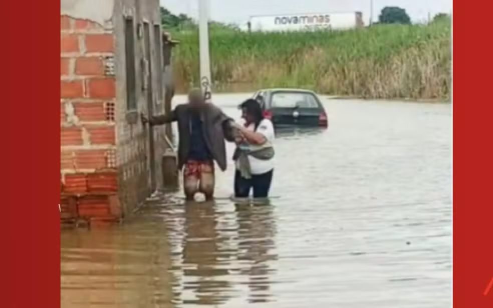
[[[220, 304], [249, 288], [249, 301], [268, 301], [269, 262], [275, 259], [272, 207], [189, 202], [166, 211], [183, 304]], [[174, 227], [183, 223], [184, 230]]]

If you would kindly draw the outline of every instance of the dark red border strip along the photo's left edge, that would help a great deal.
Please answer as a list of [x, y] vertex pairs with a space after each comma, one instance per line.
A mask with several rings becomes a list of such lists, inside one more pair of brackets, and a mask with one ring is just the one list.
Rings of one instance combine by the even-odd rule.
[[3, 9], [2, 306], [59, 307], [60, 1], [7, 1]]

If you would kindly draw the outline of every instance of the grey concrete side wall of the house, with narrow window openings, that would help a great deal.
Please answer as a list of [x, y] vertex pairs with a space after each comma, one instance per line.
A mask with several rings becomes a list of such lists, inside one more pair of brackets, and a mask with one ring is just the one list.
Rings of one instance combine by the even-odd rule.
[[[137, 108], [128, 109], [126, 104], [126, 63], [125, 63], [125, 17], [132, 17], [135, 27], [135, 71]], [[153, 129], [154, 133], [154, 165], [151, 174], [151, 153], [149, 133], [140, 121], [140, 112], [149, 114], [148, 92], [152, 88], [153, 113], [164, 112], [164, 87], [162, 82], [162, 63], [160, 46], [155, 45], [155, 25], [160, 31], [159, 0], [120, 0], [115, 2], [113, 22], [115, 25], [116, 40], [116, 76], [121, 82], [117, 85], [116, 98], [121, 102], [116, 108], [117, 117], [117, 156], [119, 166], [119, 194], [125, 211], [132, 210], [135, 205], [147, 197], [154, 189], [162, 185], [160, 157], [165, 150], [164, 127]], [[144, 37], [144, 22], [149, 24], [151, 56], [146, 57]], [[159, 33], [160, 37], [160, 33]], [[158, 57], [160, 59], [158, 60]], [[143, 60], [147, 62], [143, 62]], [[146, 69], [149, 65], [152, 76], [151, 82], [146, 84]], [[161, 91], [161, 92], [160, 92]], [[161, 94], [160, 94], [161, 93]], [[151, 176], [154, 176], [152, 181]]]

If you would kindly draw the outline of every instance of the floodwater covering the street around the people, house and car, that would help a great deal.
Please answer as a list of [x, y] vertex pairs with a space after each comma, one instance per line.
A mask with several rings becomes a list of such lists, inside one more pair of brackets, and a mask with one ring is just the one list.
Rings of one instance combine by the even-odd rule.
[[323, 101], [328, 129], [278, 132], [270, 205], [227, 199], [230, 160], [215, 203], [63, 230], [62, 307], [450, 307], [451, 105]]

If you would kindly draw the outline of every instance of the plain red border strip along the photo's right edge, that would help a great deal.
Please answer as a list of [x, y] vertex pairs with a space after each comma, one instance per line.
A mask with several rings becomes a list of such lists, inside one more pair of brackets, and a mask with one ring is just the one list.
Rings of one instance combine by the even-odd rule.
[[[453, 8], [453, 306], [493, 307], [491, 1]], [[488, 38], [486, 38], [488, 37]], [[486, 289], [485, 289], [486, 287]]]

